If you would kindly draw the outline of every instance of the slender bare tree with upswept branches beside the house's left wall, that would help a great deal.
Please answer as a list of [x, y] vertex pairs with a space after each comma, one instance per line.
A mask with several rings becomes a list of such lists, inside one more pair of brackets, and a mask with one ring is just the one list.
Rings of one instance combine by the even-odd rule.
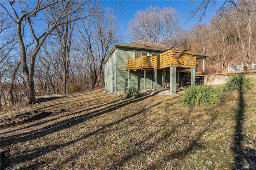
[[80, 41], [76, 45], [76, 50], [83, 56], [87, 68], [90, 70], [91, 88], [98, 86], [103, 78], [103, 61], [112, 45], [122, 41], [120, 27], [114, 12], [102, 9], [100, 4], [96, 4], [94, 15], [90, 20], [83, 21], [80, 32]]

